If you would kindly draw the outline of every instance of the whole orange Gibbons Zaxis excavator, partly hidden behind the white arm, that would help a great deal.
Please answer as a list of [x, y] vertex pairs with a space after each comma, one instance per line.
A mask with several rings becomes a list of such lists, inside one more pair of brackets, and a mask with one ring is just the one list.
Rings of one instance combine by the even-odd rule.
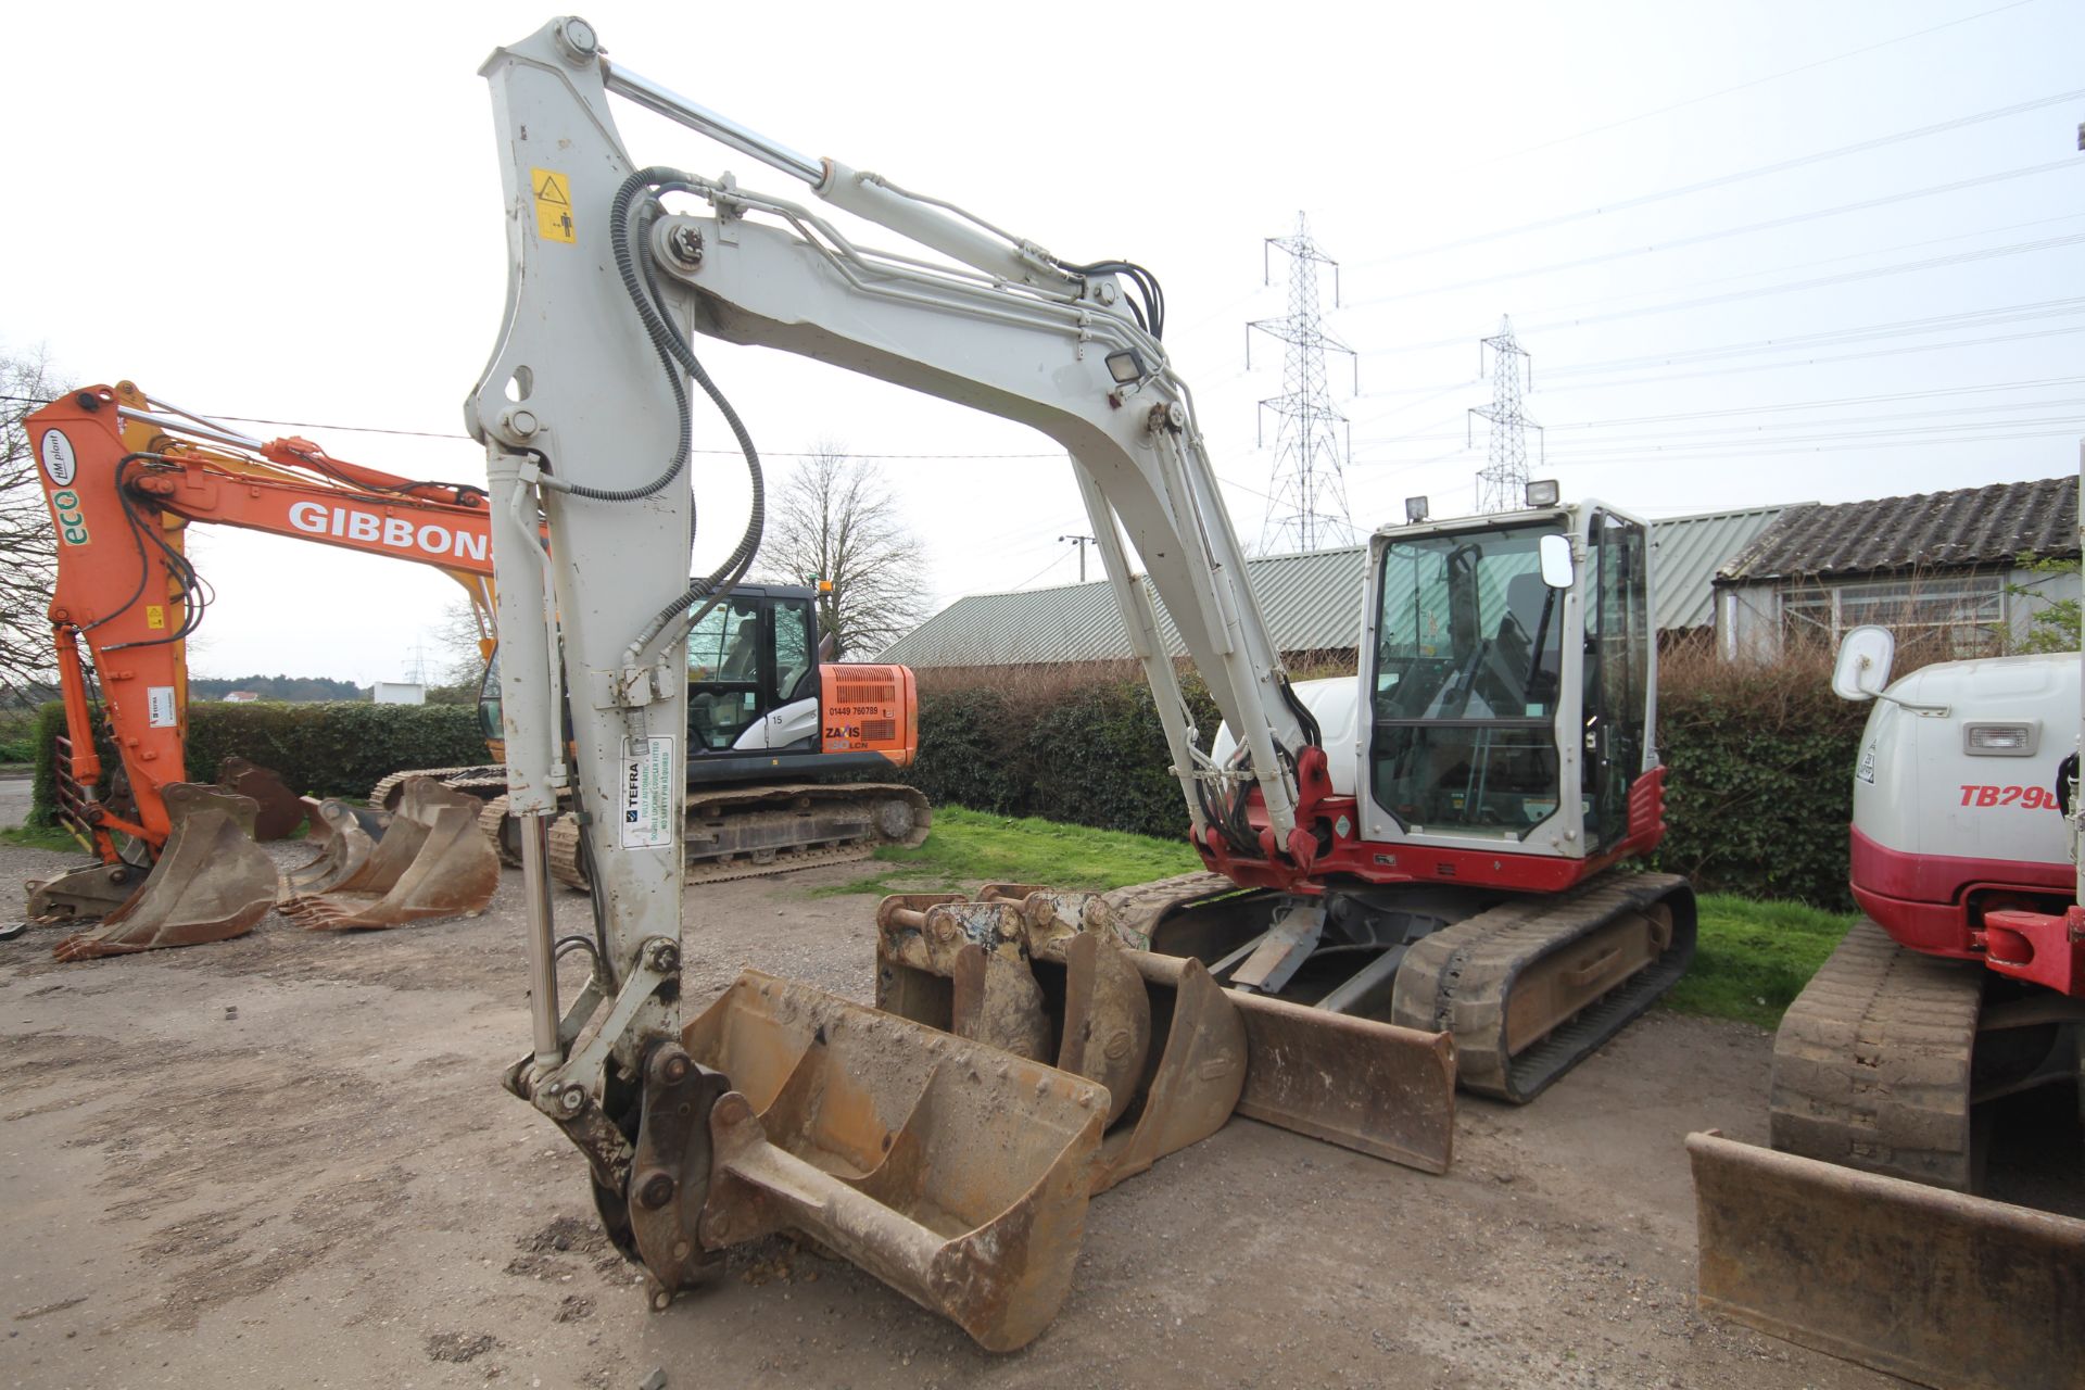
[[[467, 815], [498, 859], [519, 863], [498, 738], [484, 490], [382, 473], [302, 438], [252, 440], [129, 381], [58, 398], [29, 425], [58, 533], [50, 617], [67, 702], [60, 815], [98, 852], [96, 865], [29, 884], [29, 917], [102, 919], [100, 929], [63, 942], [60, 957], [188, 946], [250, 929], [273, 894], [273, 869], [250, 840], [279, 838], [304, 811], [273, 773], [238, 759], [217, 786], [186, 779], [186, 638], [208, 594], [181, 548], [194, 521], [436, 567], [465, 590], [477, 619], [480, 715], [492, 761], [392, 773], [367, 811], [313, 804], [313, 836], [327, 852], [290, 873], [286, 911], [313, 925], [398, 925], [425, 917], [430, 902], [452, 904], [457, 894], [442, 890], [448, 879], [471, 884], [465, 902], [475, 902], [490, 882], [482, 857], [448, 848], [448, 831], [425, 848], [430, 817], [446, 825]], [[815, 600], [801, 586], [734, 586], [690, 634], [690, 740], [698, 748], [684, 798], [690, 879], [861, 859], [878, 844], [926, 838], [932, 815], [913, 788], [834, 779], [905, 767], [919, 740], [917, 696], [905, 667], [834, 661], [815, 640]], [[102, 717], [121, 752], [121, 769], [106, 779], [92, 736], [90, 671], [100, 675]], [[400, 834], [379, 852], [388, 829]], [[171, 844], [194, 848], [169, 854]], [[586, 890], [573, 815], [559, 817], [550, 846], [550, 875]], [[459, 865], [434, 871], [444, 852]], [[400, 882], [409, 900], [386, 904]], [[350, 892], [359, 898], [348, 911], [319, 900]]]

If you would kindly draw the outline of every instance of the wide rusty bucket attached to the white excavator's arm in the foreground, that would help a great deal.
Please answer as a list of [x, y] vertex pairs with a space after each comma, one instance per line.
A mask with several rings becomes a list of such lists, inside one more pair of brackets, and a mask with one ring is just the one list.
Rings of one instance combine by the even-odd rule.
[[[667, 1288], [692, 1271], [698, 1200], [701, 1246], [801, 1232], [988, 1350], [1057, 1315], [1086, 1227], [1099, 1086], [759, 971], [688, 1023], [682, 1048], [703, 1071], [648, 1059], [630, 1173], [646, 1267], [682, 1275]], [[655, 1096], [676, 1071], [684, 1096]], [[703, 1107], [671, 1100], [711, 1075], [723, 1094], [698, 1196], [690, 1165], [676, 1167], [686, 1144], [653, 1130], [688, 1125]]]

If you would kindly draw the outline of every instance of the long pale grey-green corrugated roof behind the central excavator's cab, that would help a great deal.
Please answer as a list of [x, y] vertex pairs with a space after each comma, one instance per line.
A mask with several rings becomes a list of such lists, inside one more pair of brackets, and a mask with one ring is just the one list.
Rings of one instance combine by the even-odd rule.
[[[1651, 523], [1658, 627], [1699, 627], [1714, 613], [1710, 577], [1781, 515], [1753, 506]], [[1366, 546], [1264, 554], [1245, 563], [1259, 609], [1284, 652], [1326, 652], [1359, 644]], [[1166, 648], [1184, 656], [1166, 604], [1153, 592]], [[1130, 640], [1105, 581], [1013, 594], [970, 594], [911, 629], [878, 661], [909, 667], [1017, 667], [1126, 661]]]

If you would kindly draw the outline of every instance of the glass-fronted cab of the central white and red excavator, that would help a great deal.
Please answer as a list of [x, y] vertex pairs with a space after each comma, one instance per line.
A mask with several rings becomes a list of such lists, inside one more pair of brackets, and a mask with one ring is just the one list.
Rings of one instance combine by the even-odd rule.
[[1374, 550], [1362, 838], [1620, 846], [1649, 748], [1643, 523], [1589, 504], [1403, 527]]

